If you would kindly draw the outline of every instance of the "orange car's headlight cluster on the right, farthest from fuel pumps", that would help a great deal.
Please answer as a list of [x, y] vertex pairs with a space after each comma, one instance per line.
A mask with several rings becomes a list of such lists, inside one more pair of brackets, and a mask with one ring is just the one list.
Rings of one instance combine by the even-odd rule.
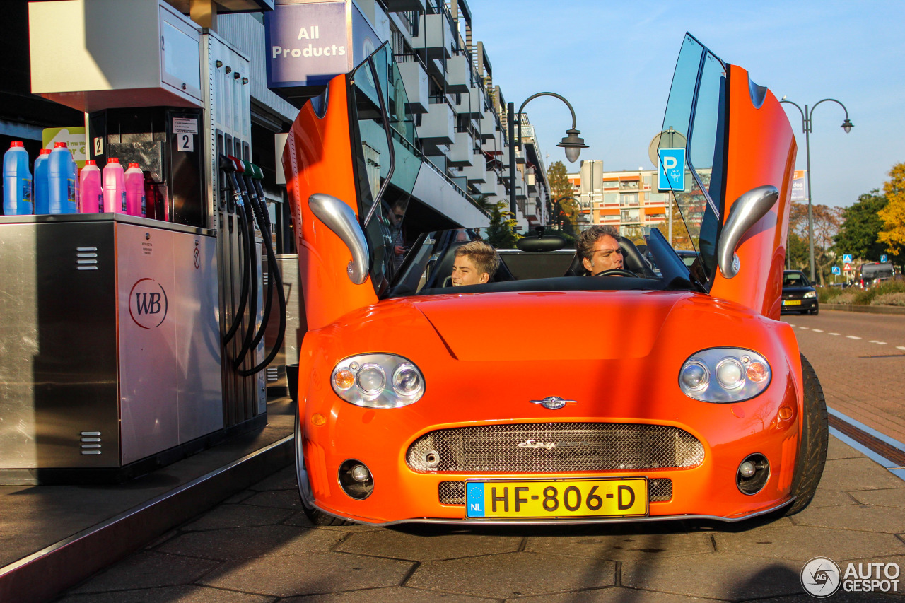
[[701, 402], [740, 402], [767, 389], [772, 373], [767, 359], [749, 349], [702, 349], [679, 371], [682, 392]]

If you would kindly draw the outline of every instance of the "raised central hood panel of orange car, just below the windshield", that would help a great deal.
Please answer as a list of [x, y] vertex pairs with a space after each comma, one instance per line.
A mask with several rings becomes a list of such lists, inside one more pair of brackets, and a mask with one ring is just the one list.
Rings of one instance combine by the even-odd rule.
[[[647, 356], [689, 292], [494, 292], [409, 298], [460, 360]], [[703, 296], [698, 296], [703, 297]]]

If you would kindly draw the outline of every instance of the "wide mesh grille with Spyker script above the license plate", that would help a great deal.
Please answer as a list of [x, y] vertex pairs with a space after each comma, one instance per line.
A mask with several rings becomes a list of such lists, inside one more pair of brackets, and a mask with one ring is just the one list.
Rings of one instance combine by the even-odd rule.
[[704, 446], [672, 426], [535, 423], [441, 429], [409, 446], [414, 471], [557, 473], [672, 469], [704, 461]]

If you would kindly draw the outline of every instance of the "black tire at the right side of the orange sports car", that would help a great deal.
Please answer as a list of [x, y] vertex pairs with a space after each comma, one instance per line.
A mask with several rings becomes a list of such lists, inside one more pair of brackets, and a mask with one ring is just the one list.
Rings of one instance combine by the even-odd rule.
[[792, 478], [791, 493], [795, 496], [795, 502], [786, 508], [786, 515], [804, 511], [814, 498], [817, 484], [824, 474], [826, 446], [830, 438], [824, 389], [820, 387], [817, 374], [804, 355], [801, 357], [801, 372], [804, 378], [805, 404], [801, 416], [801, 443], [795, 457], [795, 475]]

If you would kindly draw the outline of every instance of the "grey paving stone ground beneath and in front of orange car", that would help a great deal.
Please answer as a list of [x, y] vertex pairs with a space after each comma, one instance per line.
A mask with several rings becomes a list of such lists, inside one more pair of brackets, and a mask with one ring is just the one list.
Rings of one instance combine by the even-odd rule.
[[741, 524], [324, 528], [300, 511], [289, 467], [58, 601], [795, 603], [814, 600], [800, 574], [816, 556], [905, 567], [905, 481], [835, 438], [811, 506]]

